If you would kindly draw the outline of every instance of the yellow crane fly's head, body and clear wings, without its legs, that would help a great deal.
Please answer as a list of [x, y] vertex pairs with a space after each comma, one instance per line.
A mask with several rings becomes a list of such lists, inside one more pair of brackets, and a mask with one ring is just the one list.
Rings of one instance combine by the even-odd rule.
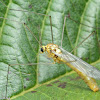
[[47, 52], [48, 57], [52, 58], [55, 62], [63, 62], [72, 68], [92, 91], [96, 92], [99, 90], [95, 81], [95, 79], [100, 79], [100, 71], [98, 69], [53, 43], [42, 46], [41, 52]]

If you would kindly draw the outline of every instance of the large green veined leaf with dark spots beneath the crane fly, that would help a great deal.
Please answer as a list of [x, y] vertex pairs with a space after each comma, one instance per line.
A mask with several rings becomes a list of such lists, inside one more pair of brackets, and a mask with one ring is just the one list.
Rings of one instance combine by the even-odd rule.
[[[39, 40], [41, 33], [42, 45], [52, 43], [49, 16], [41, 14], [51, 15], [53, 42], [61, 45], [64, 16], [67, 16], [63, 48], [71, 52], [89, 34], [96, 31], [73, 54], [99, 68], [99, 6], [100, 0], [0, 2], [0, 17], [3, 17], [0, 18], [0, 99], [98, 100], [100, 93], [91, 91], [68, 66], [48, 64], [53, 61], [47, 59], [46, 54], [40, 54], [40, 46], [34, 35]], [[31, 63], [37, 64], [25, 65]], [[97, 83], [99, 85], [100, 81]]]

